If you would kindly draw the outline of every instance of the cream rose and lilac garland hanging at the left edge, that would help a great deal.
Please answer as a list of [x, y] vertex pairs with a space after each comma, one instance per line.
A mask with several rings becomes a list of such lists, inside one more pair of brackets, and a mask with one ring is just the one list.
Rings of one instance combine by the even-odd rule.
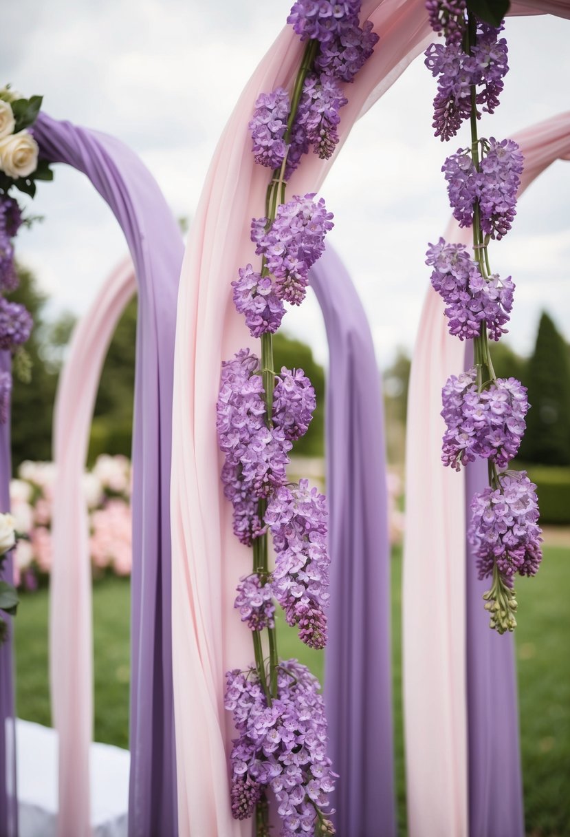
[[[33, 321], [29, 311], [19, 302], [5, 297], [18, 288], [18, 274], [14, 261], [13, 239], [24, 220], [18, 201], [10, 194], [13, 189], [33, 198], [36, 180], [51, 180], [53, 173], [46, 161], [38, 161], [38, 143], [31, 126], [36, 121], [42, 104], [41, 96], [24, 99], [9, 85], [0, 88], [0, 351], [10, 352], [19, 377], [29, 380], [29, 357], [23, 350]], [[10, 416], [12, 372], [0, 372], [0, 424]], [[0, 518], [9, 518], [0, 514]], [[11, 519], [11, 518], [10, 518]], [[0, 555], [0, 572], [4, 556]], [[0, 610], [16, 614], [18, 596], [11, 583], [0, 580]], [[0, 616], [0, 642], [6, 636], [6, 623]]]

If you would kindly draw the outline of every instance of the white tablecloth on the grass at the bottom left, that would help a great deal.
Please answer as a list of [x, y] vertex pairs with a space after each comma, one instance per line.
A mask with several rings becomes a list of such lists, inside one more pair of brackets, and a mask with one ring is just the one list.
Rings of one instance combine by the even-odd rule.
[[[58, 811], [58, 737], [50, 727], [16, 721], [19, 837], [54, 837]], [[126, 837], [130, 753], [92, 744], [94, 837]]]

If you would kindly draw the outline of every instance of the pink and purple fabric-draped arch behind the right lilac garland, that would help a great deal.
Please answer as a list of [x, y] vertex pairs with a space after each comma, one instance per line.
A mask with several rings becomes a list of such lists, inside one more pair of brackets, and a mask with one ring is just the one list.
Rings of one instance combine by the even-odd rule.
[[[525, 157], [520, 195], [554, 160], [570, 159], [570, 112], [513, 138]], [[451, 221], [444, 238], [469, 244], [471, 229]], [[474, 463], [465, 476], [440, 461], [441, 388], [472, 361], [471, 346], [466, 350], [449, 335], [443, 308], [429, 288], [408, 403], [403, 601], [410, 834], [514, 837], [524, 834], [524, 822], [513, 642], [488, 628], [481, 600], [488, 583], [477, 580], [466, 546], [469, 504], [486, 485], [486, 467]]]

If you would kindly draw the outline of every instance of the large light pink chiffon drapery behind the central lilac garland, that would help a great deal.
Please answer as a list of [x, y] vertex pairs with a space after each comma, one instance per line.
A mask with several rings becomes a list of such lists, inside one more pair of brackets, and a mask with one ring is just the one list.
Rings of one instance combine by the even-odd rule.
[[[522, 11], [557, 13], [559, 7], [560, 3], [534, 3]], [[564, 13], [570, 8], [567, 3], [562, 7]], [[341, 146], [354, 121], [430, 39], [423, 0], [368, 0], [362, 13], [373, 21], [381, 41], [354, 85], [345, 90], [349, 104], [339, 126]], [[283, 30], [248, 82], [216, 148], [182, 266], [171, 480], [181, 837], [232, 837], [251, 830], [251, 824], [231, 817], [226, 757], [232, 727], [223, 710], [226, 670], [252, 659], [251, 639], [232, 608], [237, 579], [251, 572], [251, 559], [232, 536], [231, 506], [221, 492], [215, 403], [221, 362], [239, 348], [254, 345], [233, 309], [230, 287], [238, 267], [254, 259], [249, 224], [264, 213], [268, 182], [267, 170], [253, 162], [247, 122], [257, 95], [291, 85], [302, 49], [293, 31]], [[313, 155], [304, 158], [288, 195], [317, 191], [336, 157], [335, 153], [328, 162]], [[461, 775], [461, 765], [458, 769]], [[460, 809], [465, 805], [463, 793]]]

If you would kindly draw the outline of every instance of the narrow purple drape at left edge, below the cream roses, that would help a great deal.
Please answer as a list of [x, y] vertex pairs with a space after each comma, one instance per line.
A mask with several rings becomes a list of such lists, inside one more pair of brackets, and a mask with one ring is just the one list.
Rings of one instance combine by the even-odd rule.
[[[10, 352], [0, 352], [0, 372], [12, 368]], [[0, 511], [10, 511], [10, 476], [12, 474], [10, 424], [0, 424]], [[12, 558], [8, 558], [0, 578], [13, 583]], [[16, 793], [16, 757], [14, 752], [14, 681], [12, 619], [8, 622], [8, 637], [0, 645], [0, 834], [17, 837], [18, 798]]]

